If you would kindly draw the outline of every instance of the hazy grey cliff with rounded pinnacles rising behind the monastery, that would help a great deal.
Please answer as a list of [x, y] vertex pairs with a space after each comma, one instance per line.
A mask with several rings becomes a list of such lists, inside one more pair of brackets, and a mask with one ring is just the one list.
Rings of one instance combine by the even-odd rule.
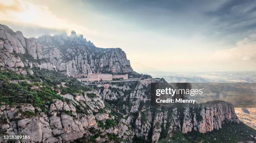
[[[122, 49], [97, 48], [74, 31], [70, 36], [65, 33], [26, 38], [22, 32], [0, 25], [0, 50], [1, 67], [41, 67], [65, 74], [133, 71]], [[22, 57], [28, 61], [22, 61]]]

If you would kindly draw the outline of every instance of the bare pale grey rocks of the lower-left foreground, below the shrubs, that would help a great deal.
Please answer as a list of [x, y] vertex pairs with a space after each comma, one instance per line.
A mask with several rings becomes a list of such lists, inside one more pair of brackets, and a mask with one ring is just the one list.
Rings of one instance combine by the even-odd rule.
[[[90, 137], [92, 135], [89, 131], [90, 128], [100, 130], [101, 138], [98, 139], [102, 142], [108, 141], [107, 133], [115, 134], [124, 140], [131, 140], [132, 131], [128, 128], [125, 119], [121, 119], [117, 126], [108, 130], [97, 124], [97, 121], [105, 122], [114, 116], [109, 116], [110, 110], [105, 108], [104, 102], [96, 92], [89, 91], [87, 94], [90, 93], [97, 96], [90, 98], [85, 95], [74, 98], [70, 94], [63, 95], [65, 98], [72, 99], [73, 102], [55, 100], [50, 105], [49, 114], [51, 116], [40, 112], [40, 108], [33, 107], [31, 104], [0, 106], [0, 117], [5, 118], [4, 123], [0, 123], [1, 129], [9, 135], [26, 134], [31, 136], [30, 141], [43, 143], [67, 143], [83, 136]], [[87, 113], [77, 113], [76, 106]], [[105, 110], [106, 113], [99, 113], [99, 110]], [[37, 116], [29, 116], [38, 111]]]

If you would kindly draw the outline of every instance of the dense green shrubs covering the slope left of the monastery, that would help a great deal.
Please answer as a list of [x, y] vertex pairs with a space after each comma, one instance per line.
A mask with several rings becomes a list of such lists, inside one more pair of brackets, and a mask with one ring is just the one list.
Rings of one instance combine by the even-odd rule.
[[[33, 106], [40, 107], [43, 112], [48, 113], [48, 106], [53, 103], [55, 99], [69, 102], [54, 91], [58, 89], [57, 84], [66, 82], [67, 87], [61, 87], [65, 94], [83, 93], [88, 90], [77, 79], [68, 77], [56, 71], [47, 69], [32, 68], [34, 75], [21, 75], [16, 74], [10, 70], [0, 71], [0, 103], [5, 104], [32, 104]], [[11, 80], [31, 80], [32, 83], [28, 84], [26, 81], [18, 81], [18, 83], [11, 82]], [[38, 89], [34, 90], [31, 87], [37, 86]], [[77, 107], [76, 107], [77, 108]], [[77, 111], [84, 112], [77, 108]]]

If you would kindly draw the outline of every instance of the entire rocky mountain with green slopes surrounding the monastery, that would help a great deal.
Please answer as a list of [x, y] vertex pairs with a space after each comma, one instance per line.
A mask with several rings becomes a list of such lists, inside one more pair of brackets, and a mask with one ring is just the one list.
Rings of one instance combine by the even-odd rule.
[[28, 135], [32, 143], [256, 141], [225, 101], [160, 108], [151, 106], [151, 84], [91, 88], [69, 76], [113, 69], [145, 76], [121, 49], [95, 47], [74, 31], [26, 38], [0, 25], [0, 134]]

